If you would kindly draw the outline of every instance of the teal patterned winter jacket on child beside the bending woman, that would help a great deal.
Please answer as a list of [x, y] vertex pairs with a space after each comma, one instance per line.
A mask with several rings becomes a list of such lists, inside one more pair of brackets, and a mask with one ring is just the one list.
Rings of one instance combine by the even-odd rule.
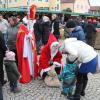
[[59, 80], [63, 81], [64, 86], [70, 86], [75, 83], [76, 72], [78, 67], [76, 64], [65, 64], [64, 68], [59, 75]]

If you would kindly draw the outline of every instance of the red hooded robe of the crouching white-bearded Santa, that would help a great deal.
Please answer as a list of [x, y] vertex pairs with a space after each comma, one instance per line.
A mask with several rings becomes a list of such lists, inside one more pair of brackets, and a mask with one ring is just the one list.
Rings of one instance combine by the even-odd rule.
[[[57, 41], [54, 35], [51, 33], [49, 36], [48, 43], [42, 48], [41, 55], [39, 58], [39, 74], [44, 69], [48, 69], [50, 67], [50, 60], [51, 60], [51, 51], [50, 51], [50, 45], [52, 42]], [[53, 58], [53, 62], [57, 62], [61, 64], [62, 54], [60, 51], [57, 52], [57, 54]]]

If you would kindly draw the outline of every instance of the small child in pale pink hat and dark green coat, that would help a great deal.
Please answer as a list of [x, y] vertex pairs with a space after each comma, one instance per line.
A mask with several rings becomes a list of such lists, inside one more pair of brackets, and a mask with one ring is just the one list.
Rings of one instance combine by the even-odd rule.
[[18, 80], [20, 78], [20, 73], [18, 72], [17, 65], [15, 62], [15, 53], [12, 51], [6, 51], [4, 58], [4, 64], [7, 72], [8, 80], [10, 81], [11, 92], [17, 93], [21, 89], [18, 87]]

